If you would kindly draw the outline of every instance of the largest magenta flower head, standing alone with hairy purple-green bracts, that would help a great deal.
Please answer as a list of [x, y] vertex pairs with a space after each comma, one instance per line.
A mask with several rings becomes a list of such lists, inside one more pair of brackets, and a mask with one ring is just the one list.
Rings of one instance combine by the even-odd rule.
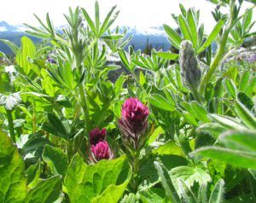
[[122, 107], [119, 127], [125, 142], [132, 142], [133, 148], [139, 147], [140, 138], [148, 127], [148, 107], [137, 98], [129, 98]]

